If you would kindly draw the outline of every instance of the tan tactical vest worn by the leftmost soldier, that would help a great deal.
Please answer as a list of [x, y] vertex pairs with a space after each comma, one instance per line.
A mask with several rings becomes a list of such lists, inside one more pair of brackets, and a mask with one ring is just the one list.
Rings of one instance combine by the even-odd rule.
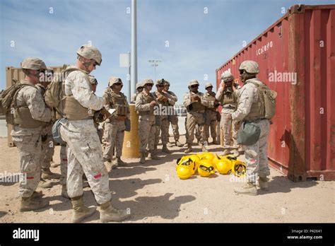
[[[31, 85], [27, 84], [27, 86], [31, 86]], [[35, 88], [35, 86], [33, 87]], [[37, 90], [37, 88], [35, 89]], [[33, 119], [33, 116], [30, 113], [28, 105], [21, 105], [21, 106], [17, 105], [16, 100], [17, 100], [19, 91], [20, 89], [17, 90], [13, 96], [12, 108], [14, 112], [13, 113], [8, 112], [8, 114], [11, 114], [8, 117], [8, 124], [13, 124], [13, 125], [17, 125], [18, 127], [28, 128], [28, 129], [35, 129], [35, 128], [42, 126], [43, 122], [41, 122], [40, 120]]]

